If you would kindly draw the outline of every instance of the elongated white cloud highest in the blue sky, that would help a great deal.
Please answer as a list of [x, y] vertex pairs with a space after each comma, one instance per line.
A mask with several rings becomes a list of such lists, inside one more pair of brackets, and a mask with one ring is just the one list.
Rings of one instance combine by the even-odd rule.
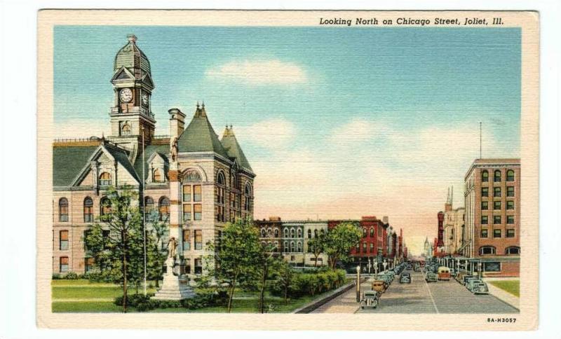
[[251, 85], [304, 83], [308, 78], [306, 71], [297, 64], [280, 60], [232, 61], [208, 69], [205, 75]]

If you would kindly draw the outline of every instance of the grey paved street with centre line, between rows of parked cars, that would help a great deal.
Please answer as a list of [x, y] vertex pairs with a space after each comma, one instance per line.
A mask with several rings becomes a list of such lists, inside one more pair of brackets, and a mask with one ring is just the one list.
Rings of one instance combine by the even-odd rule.
[[[355, 289], [331, 300], [314, 312], [322, 313], [518, 313], [511, 305], [492, 295], [473, 295], [454, 279], [449, 282], [426, 283], [421, 272], [411, 273], [411, 284], [393, 281], [382, 294], [377, 309], [360, 310], [355, 302]], [[370, 281], [361, 284], [363, 291], [370, 290]]]

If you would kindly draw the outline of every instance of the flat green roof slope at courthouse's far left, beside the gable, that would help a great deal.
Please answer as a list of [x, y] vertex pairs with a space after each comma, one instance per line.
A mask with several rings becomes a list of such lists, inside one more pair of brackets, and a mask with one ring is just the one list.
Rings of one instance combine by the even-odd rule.
[[53, 186], [70, 186], [99, 146], [53, 147]]

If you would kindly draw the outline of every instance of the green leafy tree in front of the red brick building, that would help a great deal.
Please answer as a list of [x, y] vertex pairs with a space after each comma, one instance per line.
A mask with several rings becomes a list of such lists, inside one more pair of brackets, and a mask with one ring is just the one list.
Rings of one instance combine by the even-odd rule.
[[325, 254], [328, 256], [329, 267], [334, 270], [337, 261], [346, 261], [349, 258], [351, 247], [356, 245], [363, 232], [349, 221], [339, 223], [325, 236]]

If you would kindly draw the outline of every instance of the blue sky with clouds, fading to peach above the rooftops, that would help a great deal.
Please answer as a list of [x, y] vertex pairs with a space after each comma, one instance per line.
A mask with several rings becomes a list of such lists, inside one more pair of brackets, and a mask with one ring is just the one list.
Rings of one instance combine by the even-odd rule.
[[484, 157], [519, 156], [514, 28], [58, 26], [60, 137], [108, 132], [114, 55], [130, 33], [151, 62], [156, 134], [168, 109], [189, 117], [204, 100], [257, 172], [258, 217], [384, 214], [433, 236], [448, 186], [464, 205], [480, 121]]

